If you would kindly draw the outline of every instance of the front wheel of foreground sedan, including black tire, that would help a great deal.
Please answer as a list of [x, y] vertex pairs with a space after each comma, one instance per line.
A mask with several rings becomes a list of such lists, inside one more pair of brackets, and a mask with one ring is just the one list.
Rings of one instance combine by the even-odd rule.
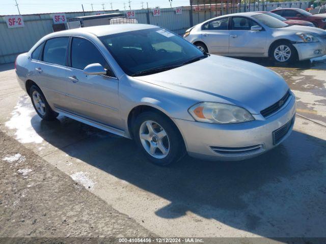
[[185, 155], [180, 132], [172, 121], [158, 112], [144, 112], [134, 122], [134, 139], [154, 164], [165, 166]]

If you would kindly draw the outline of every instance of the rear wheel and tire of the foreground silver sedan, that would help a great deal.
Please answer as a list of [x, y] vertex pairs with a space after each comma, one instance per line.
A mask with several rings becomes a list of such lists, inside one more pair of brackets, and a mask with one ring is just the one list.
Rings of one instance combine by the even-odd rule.
[[53, 120], [58, 117], [59, 113], [53, 111], [47, 103], [41, 89], [32, 85], [30, 88], [30, 97], [37, 114], [45, 120]]

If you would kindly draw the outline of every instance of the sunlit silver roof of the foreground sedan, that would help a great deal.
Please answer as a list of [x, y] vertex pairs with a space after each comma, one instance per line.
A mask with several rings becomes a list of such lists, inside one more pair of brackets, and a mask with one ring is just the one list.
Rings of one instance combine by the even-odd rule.
[[97, 25], [83, 28], [67, 29], [66, 31], [56, 32], [52, 36], [60, 35], [78, 35], [78, 34], [93, 34], [97, 37], [113, 35], [124, 32], [140, 31], [141, 29], [158, 28], [156, 25], [151, 24], [108, 24]]

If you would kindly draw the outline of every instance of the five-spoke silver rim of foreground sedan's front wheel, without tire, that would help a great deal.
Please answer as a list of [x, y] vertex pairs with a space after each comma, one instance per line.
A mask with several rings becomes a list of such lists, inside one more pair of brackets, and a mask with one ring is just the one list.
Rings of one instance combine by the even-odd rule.
[[139, 136], [144, 149], [156, 159], [167, 157], [170, 151], [169, 137], [158, 123], [146, 120], [139, 129]]

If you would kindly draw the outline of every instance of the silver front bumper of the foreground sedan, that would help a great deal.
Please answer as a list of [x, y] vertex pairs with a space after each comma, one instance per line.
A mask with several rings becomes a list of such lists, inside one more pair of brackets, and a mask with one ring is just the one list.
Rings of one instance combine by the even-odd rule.
[[[280, 144], [292, 131], [295, 117], [293, 93], [275, 114], [245, 123], [219, 125], [173, 119], [179, 128], [190, 156], [206, 160], [238, 161], [253, 158]], [[273, 132], [289, 125], [282, 138], [275, 141]], [[275, 133], [274, 133], [275, 134]]]

